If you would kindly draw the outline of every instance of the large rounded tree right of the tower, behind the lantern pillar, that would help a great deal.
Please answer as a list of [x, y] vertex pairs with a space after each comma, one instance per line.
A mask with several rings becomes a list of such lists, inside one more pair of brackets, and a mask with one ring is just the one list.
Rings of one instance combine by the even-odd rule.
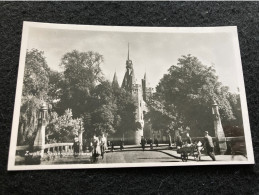
[[156, 88], [165, 107], [173, 106], [182, 119], [183, 129], [190, 127], [193, 135], [202, 135], [205, 130], [213, 134], [211, 114], [212, 100], [219, 104], [222, 121], [234, 119], [228, 101], [228, 88], [218, 81], [215, 69], [203, 65], [196, 57], [182, 56], [177, 65], [169, 68], [168, 74]]

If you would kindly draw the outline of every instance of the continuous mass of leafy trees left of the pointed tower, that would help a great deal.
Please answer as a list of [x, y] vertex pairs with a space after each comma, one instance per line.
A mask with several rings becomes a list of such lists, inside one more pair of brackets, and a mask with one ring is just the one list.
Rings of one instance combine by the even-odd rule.
[[99, 53], [74, 50], [63, 55], [63, 71], [57, 72], [48, 67], [43, 52], [27, 51], [18, 144], [33, 142], [43, 101], [49, 105], [48, 142], [71, 142], [80, 128], [88, 138], [134, 130], [134, 101], [103, 78], [103, 61]]

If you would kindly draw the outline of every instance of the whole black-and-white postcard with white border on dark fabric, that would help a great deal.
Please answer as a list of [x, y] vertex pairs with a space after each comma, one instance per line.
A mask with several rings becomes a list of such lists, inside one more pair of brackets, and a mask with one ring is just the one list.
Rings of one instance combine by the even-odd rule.
[[24, 22], [8, 170], [254, 164], [236, 26]]

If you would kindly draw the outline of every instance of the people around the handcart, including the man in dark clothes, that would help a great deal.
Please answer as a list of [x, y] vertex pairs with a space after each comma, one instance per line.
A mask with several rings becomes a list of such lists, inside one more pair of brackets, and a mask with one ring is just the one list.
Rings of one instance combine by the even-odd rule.
[[195, 141], [193, 143], [192, 138], [190, 137], [189, 133], [186, 133], [185, 141], [183, 141], [181, 133], [179, 133], [178, 136], [176, 137], [176, 147], [178, 147], [178, 148], [183, 147], [183, 145], [186, 145], [188, 147], [188, 146], [191, 146], [193, 144], [197, 148], [199, 159], [200, 159], [200, 156], [201, 156], [201, 150], [203, 150], [205, 148], [208, 156], [210, 156], [213, 161], [216, 161], [213, 139], [209, 135], [208, 131], [204, 132], [203, 143], [201, 143], [200, 141], [199, 142]]

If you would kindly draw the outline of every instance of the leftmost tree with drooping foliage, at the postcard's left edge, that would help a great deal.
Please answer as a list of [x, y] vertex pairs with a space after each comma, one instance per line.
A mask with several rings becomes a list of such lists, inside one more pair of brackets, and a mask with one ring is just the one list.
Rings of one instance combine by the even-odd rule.
[[26, 52], [18, 145], [31, 144], [34, 140], [40, 104], [48, 99], [49, 72], [42, 51], [32, 49]]

